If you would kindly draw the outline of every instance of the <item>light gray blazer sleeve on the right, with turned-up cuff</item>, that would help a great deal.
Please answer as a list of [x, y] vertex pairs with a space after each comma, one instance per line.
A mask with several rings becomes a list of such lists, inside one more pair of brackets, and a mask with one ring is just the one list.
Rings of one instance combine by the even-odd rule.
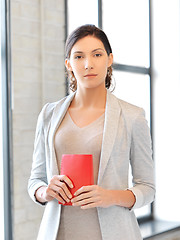
[[154, 161], [150, 129], [145, 119], [145, 112], [140, 109], [132, 125], [130, 163], [136, 202], [131, 210], [151, 203], [155, 196]]

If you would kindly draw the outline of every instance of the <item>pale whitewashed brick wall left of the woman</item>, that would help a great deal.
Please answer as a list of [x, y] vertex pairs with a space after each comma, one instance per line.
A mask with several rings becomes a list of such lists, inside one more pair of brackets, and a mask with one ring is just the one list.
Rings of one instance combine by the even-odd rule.
[[44, 208], [27, 183], [37, 116], [65, 95], [64, 0], [12, 0], [14, 240], [33, 240]]

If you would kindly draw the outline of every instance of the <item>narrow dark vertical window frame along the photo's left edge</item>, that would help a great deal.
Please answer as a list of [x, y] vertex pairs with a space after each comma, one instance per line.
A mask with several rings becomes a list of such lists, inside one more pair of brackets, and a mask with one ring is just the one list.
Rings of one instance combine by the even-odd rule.
[[1, 1], [1, 85], [3, 125], [4, 238], [12, 240], [12, 113], [11, 113], [11, 52], [10, 0]]

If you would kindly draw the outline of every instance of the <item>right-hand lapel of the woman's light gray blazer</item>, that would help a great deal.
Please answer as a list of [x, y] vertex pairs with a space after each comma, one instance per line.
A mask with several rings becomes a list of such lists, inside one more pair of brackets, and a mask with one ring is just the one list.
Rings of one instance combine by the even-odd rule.
[[109, 91], [107, 91], [104, 133], [98, 174], [99, 185], [101, 184], [108, 160], [113, 149], [114, 141], [117, 134], [120, 112], [121, 109], [120, 105], [118, 104], [117, 98]]

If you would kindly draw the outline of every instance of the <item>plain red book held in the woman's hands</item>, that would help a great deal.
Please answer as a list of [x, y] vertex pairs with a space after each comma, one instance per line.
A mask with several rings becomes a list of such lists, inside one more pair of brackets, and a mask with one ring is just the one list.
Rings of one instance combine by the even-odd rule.
[[[66, 175], [72, 181], [74, 187], [69, 188], [69, 190], [73, 197], [74, 193], [82, 186], [93, 185], [94, 174], [92, 155], [90, 154], [62, 155], [61, 175]], [[72, 203], [71, 202], [65, 203], [64, 205], [72, 205]]]

